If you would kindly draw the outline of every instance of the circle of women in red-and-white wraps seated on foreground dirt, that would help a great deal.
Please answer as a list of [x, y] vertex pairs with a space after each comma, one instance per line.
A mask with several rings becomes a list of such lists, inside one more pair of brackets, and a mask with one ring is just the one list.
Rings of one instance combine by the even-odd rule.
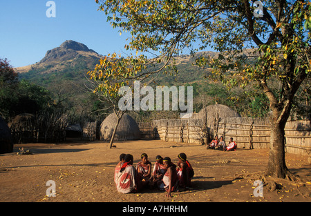
[[153, 169], [145, 153], [141, 155], [141, 161], [135, 167], [133, 155], [121, 154], [120, 162], [115, 167], [115, 185], [120, 193], [135, 193], [149, 186], [165, 190], [166, 196], [171, 197], [173, 191], [189, 189], [192, 177], [194, 169], [185, 153], [178, 155], [177, 166], [171, 158], [158, 155]]

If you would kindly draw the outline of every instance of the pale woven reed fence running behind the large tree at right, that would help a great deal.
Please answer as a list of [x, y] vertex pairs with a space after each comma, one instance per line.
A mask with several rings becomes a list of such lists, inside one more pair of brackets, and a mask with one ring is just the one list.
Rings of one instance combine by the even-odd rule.
[[[218, 135], [225, 141], [230, 137], [238, 148], [269, 148], [269, 119], [232, 117], [205, 123], [203, 119], [161, 119], [138, 123], [142, 138], [161, 139], [194, 144], [208, 144]], [[311, 153], [311, 126], [309, 120], [288, 121], [285, 126], [285, 150], [297, 155]]]

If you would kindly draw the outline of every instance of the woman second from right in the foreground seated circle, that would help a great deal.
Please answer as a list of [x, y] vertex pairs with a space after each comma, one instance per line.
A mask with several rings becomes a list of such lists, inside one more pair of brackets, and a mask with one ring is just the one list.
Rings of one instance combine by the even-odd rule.
[[167, 169], [161, 181], [158, 181], [158, 188], [166, 190], [166, 197], [171, 197], [171, 192], [176, 191], [178, 188], [178, 175], [176, 165], [171, 162], [171, 158], [164, 157], [163, 165]]

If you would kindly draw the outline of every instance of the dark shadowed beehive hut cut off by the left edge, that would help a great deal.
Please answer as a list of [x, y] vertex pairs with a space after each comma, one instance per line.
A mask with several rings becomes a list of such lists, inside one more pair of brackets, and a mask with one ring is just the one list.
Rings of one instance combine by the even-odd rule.
[[0, 117], [0, 154], [12, 153], [13, 152], [13, 141], [11, 137], [11, 131], [4, 121]]

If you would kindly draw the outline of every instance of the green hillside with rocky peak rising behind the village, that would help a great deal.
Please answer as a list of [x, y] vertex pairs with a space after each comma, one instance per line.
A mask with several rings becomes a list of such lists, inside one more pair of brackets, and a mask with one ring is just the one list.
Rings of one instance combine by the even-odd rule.
[[[218, 52], [199, 52], [196, 57], [198, 55], [216, 57]], [[241, 55], [247, 55], [247, 51]], [[193, 86], [194, 112], [211, 104], [224, 104], [243, 116], [267, 115], [269, 112], [267, 98], [256, 83], [247, 86], [246, 89], [228, 90], [223, 84], [205, 78], [208, 77], [209, 70], [194, 65], [196, 57], [191, 55], [175, 57], [177, 73], [175, 70], [162, 72], [149, 85], [153, 87]], [[54, 95], [55, 103], [62, 101], [64, 110], [79, 119], [83, 116], [99, 115], [101, 113], [96, 110], [105, 106], [96, 100], [91, 90], [86, 88], [88, 86], [86, 73], [93, 70], [101, 58], [104, 57], [82, 43], [65, 41], [58, 48], [48, 50], [44, 59], [38, 63], [15, 68], [15, 70], [19, 73], [20, 79], [26, 79], [50, 90]], [[153, 70], [157, 70], [160, 66], [161, 64], [153, 66]], [[297, 97], [297, 104], [299, 98], [301, 97]], [[297, 110], [299, 110], [298, 106], [296, 106]]]

